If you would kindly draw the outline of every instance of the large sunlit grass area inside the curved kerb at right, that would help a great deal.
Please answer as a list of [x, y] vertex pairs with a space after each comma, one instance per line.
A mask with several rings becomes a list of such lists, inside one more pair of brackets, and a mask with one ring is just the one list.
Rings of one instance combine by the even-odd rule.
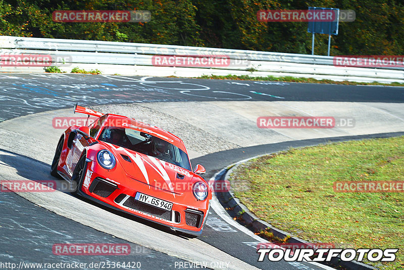
[[404, 137], [291, 149], [230, 177], [235, 196], [276, 228], [317, 243], [399, 248], [395, 262], [371, 264], [404, 268], [404, 193], [336, 193], [335, 181], [404, 182]]

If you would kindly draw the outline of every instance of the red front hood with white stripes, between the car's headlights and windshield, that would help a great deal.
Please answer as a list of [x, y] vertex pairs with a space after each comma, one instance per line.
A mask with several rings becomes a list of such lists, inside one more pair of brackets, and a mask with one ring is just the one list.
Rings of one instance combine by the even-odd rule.
[[110, 144], [109, 146], [117, 161], [134, 181], [143, 182], [156, 190], [177, 194], [191, 190], [193, 172], [139, 152]]

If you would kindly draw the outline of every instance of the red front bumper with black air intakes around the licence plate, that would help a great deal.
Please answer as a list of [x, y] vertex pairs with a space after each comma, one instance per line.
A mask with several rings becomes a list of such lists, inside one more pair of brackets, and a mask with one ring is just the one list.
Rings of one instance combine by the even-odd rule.
[[[125, 185], [115, 181], [112, 175], [106, 177], [106, 170], [100, 168], [96, 162], [88, 161], [87, 168], [83, 185], [78, 191], [81, 196], [104, 206], [162, 224], [174, 231], [195, 236], [202, 233], [209, 213], [209, 199], [196, 201], [191, 193], [173, 194], [163, 190], [157, 191], [146, 183], [132, 179], [130, 179], [130, 185], [127, 185], [127, 182]], [[173, 203], [171, 211], [134, 200], [136, 192]]]

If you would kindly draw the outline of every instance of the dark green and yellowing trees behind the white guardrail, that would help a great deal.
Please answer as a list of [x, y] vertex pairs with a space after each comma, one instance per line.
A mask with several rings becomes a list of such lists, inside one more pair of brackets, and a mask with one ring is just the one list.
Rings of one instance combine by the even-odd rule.
[[[332, 36], [331, 55], [403, 55], [401, 0], [0, 0], [0, 35], [72, 38], [311, 53], [307, 22], [259, 22], [259, 10], [328, 7], [355, 10]], [[58, 23], [55, 10], [148, 10], [146, 23]], [[327, 35], [315, 52], [327, 53]]]

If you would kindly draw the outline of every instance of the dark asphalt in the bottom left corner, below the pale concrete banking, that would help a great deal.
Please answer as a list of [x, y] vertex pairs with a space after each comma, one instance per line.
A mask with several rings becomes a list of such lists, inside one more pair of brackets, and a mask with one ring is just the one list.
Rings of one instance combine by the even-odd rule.
[[[178, 265], [185, 262], [178, 258], [174, 259], [165, 253], [96, 231], [69, 218], [61, 217], [32, 204], [13, 192], [2, 192], [0, 208], [2, 209], [0, 261], [3, 262], [13, 262], [17, 265], [20, 261], [26, 265], [28, 263], [77, 262], [89, 265], [90, 263], [120, 261], [130, 262], [131, 265], [140, 262], [143, 269], [169, 269], [175, 267], [175, 262]], [[130, 245], [131, 253], [127, 256], [61, 256], [49, 252], [56, 243], [126, 244]]]

